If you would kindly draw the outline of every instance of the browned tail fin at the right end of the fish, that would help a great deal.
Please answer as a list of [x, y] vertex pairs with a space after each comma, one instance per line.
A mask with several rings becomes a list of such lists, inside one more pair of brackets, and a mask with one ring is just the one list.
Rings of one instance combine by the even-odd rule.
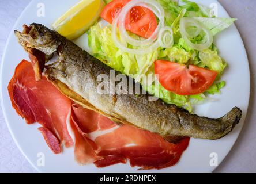
[[221, 122], [224, 122], [224, 124], [229, 124], [231, 128], [229, 129], [229, 131], [232, 131], [235, 125], [239, 123], [241, 117], [242, 117], [242, 110], [235, 107], [230, 112], [228, 112], [225, 116], [219, 118], [219, 120]]

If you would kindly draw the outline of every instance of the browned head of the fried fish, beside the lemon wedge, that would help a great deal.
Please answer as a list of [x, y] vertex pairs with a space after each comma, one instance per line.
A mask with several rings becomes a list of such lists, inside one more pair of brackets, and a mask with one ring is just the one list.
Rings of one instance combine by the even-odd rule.
[[57, 51], [58, 46], [61, 44], [58, 34], [42, 24], [23, 25], [23, 31], [14, 30], [14, 34], [18, 39], [18, 43], [27, 52], [29, 52], [29, 49], [35, 48], [50, 56]]

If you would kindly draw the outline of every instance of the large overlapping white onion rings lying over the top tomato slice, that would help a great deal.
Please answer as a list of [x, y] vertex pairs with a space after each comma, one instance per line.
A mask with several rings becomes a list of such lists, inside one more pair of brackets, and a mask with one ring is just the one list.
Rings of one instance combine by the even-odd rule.
[[[153, 11], [153, 13], [159, 18], [159, 24], [157, 25], [156, 30], [148, 39], [135, 39], [131, 37], [125, 28], [125, 18], [127, 13], [135, 7], [135, 6], [142, 6], [146, 7], [149, 10]], [[164, 10], [163, 7], [157, 3], [156, 1], [152, 0], [134, 0], [127, 3], [120, 13], [115, 16], [114, 21], [112, 22], [112, 32], [111, 37], [119, 49], [124, 52], [133, 53], [137, 55], [146, 54], [155, 51], [157, 48], [163, 47], [168, 48], [171, 47], [173, 44], [173, 33], [171, 28], [163, 28], [164, 27]], [[119, 36], [122, 37], [122, 40], [125, 40], [126, 43], [121, 43], [117, 35], [117, 26], [119, 29]], [[161, 32], [161, 34], [160, 34]], [[166, 40], [170, 38], [170, 41], [167, 43]], [[165, 40], [165, 41], [164, 41]], [[127, 47], [127, 43], [133, 46], [144, 46], [141, 49], [131, 49]]]

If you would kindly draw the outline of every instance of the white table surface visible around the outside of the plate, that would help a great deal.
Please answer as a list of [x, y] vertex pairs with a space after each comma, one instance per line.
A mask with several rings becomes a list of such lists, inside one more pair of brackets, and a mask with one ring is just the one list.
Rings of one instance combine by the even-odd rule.
[[[0, 59], [7, 37], [22, 10], [31, 0], [0, 0]], [[251, 72], [251, 97], [246, 122], [235, 146], [215, 172], [256, 172], [256, 1], [219, 0], [231, 17], [238, 18], [236, 26], [247, 50]], [[1, 60], [2, 62], [2, 60]], [[246, 81], [244, 81], [246, 82]], [[0, 172], [36, 172], [14, 143], [0, 107]]]

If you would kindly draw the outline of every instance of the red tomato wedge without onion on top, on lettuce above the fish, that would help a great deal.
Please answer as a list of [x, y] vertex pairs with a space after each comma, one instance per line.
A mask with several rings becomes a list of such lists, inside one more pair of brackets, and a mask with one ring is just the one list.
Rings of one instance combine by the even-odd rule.
[[212, 86], [217, 72], [205, 68], [170, 62], [155, 61], [155, 74], [161, 85], [168, 91], [179, 95], [193, 95], [203, 93]]

